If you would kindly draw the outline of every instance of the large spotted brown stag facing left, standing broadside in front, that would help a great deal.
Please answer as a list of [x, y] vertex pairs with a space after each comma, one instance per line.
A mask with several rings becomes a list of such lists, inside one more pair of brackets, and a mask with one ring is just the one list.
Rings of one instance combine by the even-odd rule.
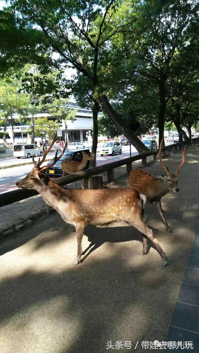
[[[138, 191], [129, 188], [65, 189], [57, 185], [45, 174], [45, 170], [49, 168], [49, 165], [41, 166], [55, 139], [56, 137], [48, 150], [43, 151], [44, 156], [41, 161], [39, 159], [36, 162], [34, 156], [32, 157], [34, 164], [32, 171], [25, 178], [17, 181], [16, 185], [21, 189], [37, 190], [44, 201], [57, 210], [66, 223], [75, 226], [77, 257], [74, 265], [81, 262], [81, 255], [83, 255], [81, 243], [87, 224], [100, 226], [123, 220], [151, 239], [163, 260], [163, 267], [166, 267], [168, 260], [165, 253], [155, 238], [153, 231], [144, 224], [142, 219], [142, 209], [147, 201], [146, 197]], [[66, 146], [64, 150], [65, 148]], [[56, 152], [50, 166], [61, 158], [64, 150], [58, 157]]]

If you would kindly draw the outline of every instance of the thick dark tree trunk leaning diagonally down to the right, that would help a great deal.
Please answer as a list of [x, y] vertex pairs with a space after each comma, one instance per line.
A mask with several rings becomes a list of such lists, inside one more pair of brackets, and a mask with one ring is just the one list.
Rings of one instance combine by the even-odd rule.
[[131, 144], [136, 148], [139, 153], [148, 151], [148, 148], [142, 143], [142, 141], [136, 136], [135, 132], [129, 127], [125, 127], [125, 123], [122, 121], [122, 117], [113, 109], [111, 104], [108, 102], [108, 98], [105, 95], [99, 96], [99, 101], [107, 114], [108, 118], [118, 127], [121, 133], [128, 138]]

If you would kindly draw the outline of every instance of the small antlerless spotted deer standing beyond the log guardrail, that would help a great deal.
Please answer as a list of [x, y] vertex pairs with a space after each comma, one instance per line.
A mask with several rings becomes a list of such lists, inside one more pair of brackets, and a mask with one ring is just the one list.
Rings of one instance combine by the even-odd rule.
[[[87, 162], [94, 159], [94, 157], [92, 157], [88, 153], [85, 153], [84, 151], [82, 151], [82, 155], [83, 157], [81, 162], [73, 161], [71, 159], [64, 159], [61, 162], [63, 177], [64, 175], [67, 175], [67, 174], [81, 172], [81, 170], [83, 170], [86, 167]], [[81, 181], [81, 185], [82, 185], [82, 189], [84, 189], [82, 181]], [[76, 182], [75, 182], [75, 186], [76, 186]]]

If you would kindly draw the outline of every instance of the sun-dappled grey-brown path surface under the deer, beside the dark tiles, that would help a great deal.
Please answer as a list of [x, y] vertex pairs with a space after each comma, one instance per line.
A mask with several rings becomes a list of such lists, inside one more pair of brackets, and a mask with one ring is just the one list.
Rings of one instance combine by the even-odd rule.
[[[57, 213], [19, 231], [17, 239], [1, 240], [0, 351], [101, 353], [107, 342], [116, 347], [131, 341], [131, 349], [138, 342], [136, 351], [143, 352], [141, 341], [166, 340], [198, 222], [199, 145], [186, 154], [180, 192], [162, 202], [173, 233], [166, 232], [155, 205], [145, 209], [144, 221], [169, 258], [166, 268], [149, 240], [149, 253], [140, 255], [141, 234], [122, 222], [87, 226], [83, 250], [95, 245], [75, 267], [74, 227]], [[179, 150], [164, 159], [173, 172], [180, 161]], [[146, 170], [164, 173], [159, 162]], [[126, 180], [124, 174], [120, 185]]]

